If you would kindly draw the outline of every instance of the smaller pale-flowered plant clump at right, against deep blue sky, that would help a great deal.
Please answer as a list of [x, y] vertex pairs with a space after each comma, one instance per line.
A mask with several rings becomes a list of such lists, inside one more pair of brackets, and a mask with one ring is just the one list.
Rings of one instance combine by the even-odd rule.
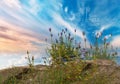
[[[111, 37], [112, 34], [109, 35], [109, 38]], [[113, 51], [113, 48], [111, 48], [108, 36], [104, 36], [102, 39], [102, 33], [96, 34], [94, 46], [91, 46], [90, 49], [93, 59], [114, 60], [114, 58], [117, 56], [117, 50]]]

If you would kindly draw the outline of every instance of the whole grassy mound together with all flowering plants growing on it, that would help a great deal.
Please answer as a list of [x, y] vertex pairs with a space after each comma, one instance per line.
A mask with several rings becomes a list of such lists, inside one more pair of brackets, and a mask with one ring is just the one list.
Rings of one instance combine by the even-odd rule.
[[76, 41], [76, 29], [73, 36], [67, 29], [62, 29], [57, 36], [58, 39], [55, 39], [51, 28], [49, 32], [51, 47], [47, 48], [47, 53], [52, 57], [52, 61], [44, 59], [44, 62], [50, 65], [35, 66], [34, 56], [31, 57], [27, 51], [28, 67], [13, 67], [2, 71], [1, 73], [7, 72], [6, 77], [3, 77], [5, 73], [1, 76], [3, 84], [109, 84], [109, 81], [116, 80], [115, 71], [119, 74], [119, 68], [106, 66], [106, 63], [96, 63], [99, 62], [96, 61], [98, 59], [113, 61], [117, 55], [116, 51], [110, 52], [113, 48], [106, 37], [101, 40], [102, 35], [97, 33], [94, 45], [88, 47], [85, 32], [84, 43]]

